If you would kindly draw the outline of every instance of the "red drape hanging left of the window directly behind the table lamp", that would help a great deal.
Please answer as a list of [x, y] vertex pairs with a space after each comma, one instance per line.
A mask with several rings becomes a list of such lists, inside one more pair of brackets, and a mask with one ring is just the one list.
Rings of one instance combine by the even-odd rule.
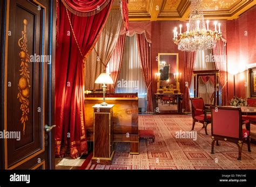
[[125, 34], [119, 35], [116, 47], [114, 47], [113, 54], [108, 64], [108, 67], [110, 69], [110, 76], [114, 82], [114, 84], [107, 85], [111, 93], [114, 93], [114, 88], [116, 88], [117, 80], [120, 74], [122, 59], [124, 54], [125, 38], [126, 38]]

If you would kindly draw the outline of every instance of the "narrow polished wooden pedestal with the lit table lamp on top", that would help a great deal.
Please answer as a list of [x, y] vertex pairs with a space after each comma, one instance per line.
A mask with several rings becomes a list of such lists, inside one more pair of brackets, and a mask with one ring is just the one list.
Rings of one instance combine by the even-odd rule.
[[113, 104], [93, 108], [93, 164], [111, 164], [113, 157]]

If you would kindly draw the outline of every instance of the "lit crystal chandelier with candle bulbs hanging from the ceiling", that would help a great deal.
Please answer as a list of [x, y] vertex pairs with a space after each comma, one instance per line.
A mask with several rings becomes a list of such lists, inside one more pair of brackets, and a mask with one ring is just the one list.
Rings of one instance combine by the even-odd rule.
[[[191, 0], [191, 12], [189, 23], [186, 24], [187, 31], [181, 32], [182, 25], [173, 30], [173, 41], [178, 45], [180, 51], [198, 51], [214, 48], [216, 41], [221, 38], [220, 23], [214, 21], [215, 30], [209, 30], [209, 20], [205, 20], [201, 7], [202, 0]], [[217, 24], [219, 26], [217, 30]]]

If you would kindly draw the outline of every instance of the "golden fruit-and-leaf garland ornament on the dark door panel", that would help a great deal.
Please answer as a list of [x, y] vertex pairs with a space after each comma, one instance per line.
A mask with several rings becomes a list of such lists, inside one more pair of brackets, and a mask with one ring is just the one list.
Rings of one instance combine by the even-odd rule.
[[29, 117], [29, 95], [30, 95], [30, 90], [29, 88], [30, 83], [29, 83], [29, 54], [28, 54], [28, 49], [26, 42], [28, 41], [26, 38], [26, 25], [28, 25], [28, 20], [24, 19], [24, 31], [22, 31], [22, 38], [18, 40], [18, 46], [21, 48], [21, 52], [19, 52], [19, 57], [21, 59], [21, 69], [19, 70], [21, 75], [21, 78], [19, 78], [19, 83], [18, 83], [18, 99], [19, 102], [21, 103], [21, 111], [22, 111], [22, 117], [21, 117], [21, 123], [23, 124], [23, 135], [25, 135], [25, 129], [26, 129], [26, 121], [28, 121]]

